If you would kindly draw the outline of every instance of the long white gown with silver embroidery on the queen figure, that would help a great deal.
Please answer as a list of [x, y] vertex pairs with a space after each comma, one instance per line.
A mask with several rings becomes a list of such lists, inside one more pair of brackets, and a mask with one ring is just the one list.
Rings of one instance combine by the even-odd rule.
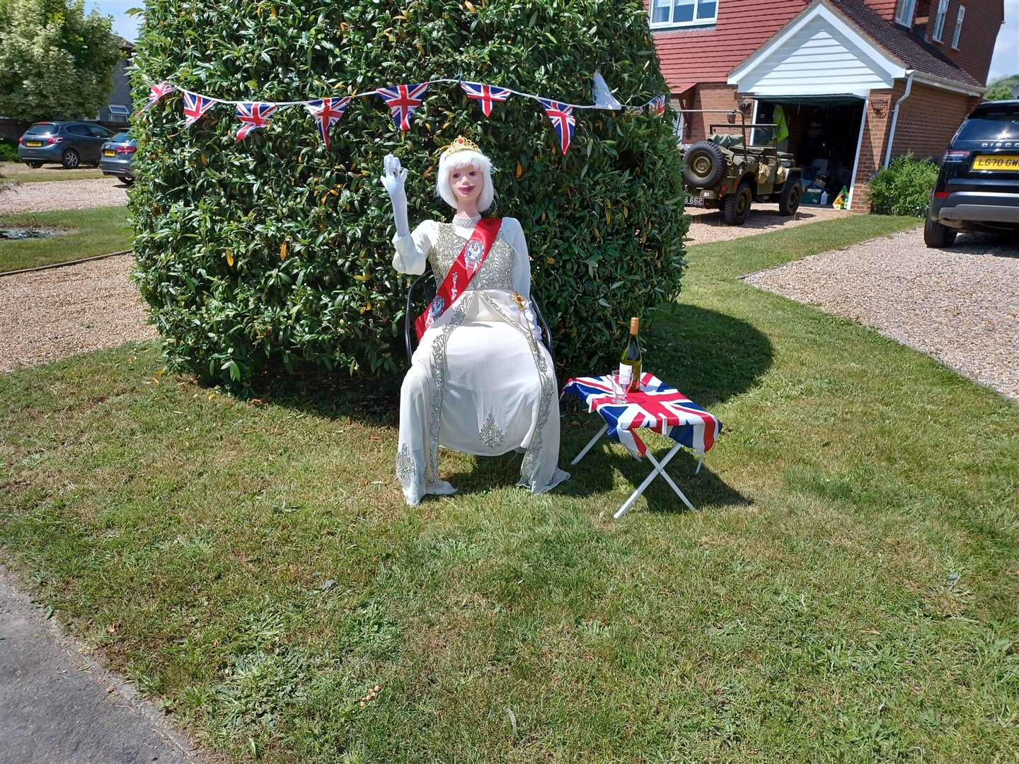
[[[395, 236], [392, 266], [421, 274], [430, 260], [441, 283], [474, 228], [426, 220]], [[524, 230], [502, 218], [469, 286], [425, 332], [399, 397], [396, 477], [408, 503], [452, 493], [439, 480], [439, 446], [478, 456], [523, 449], [518, 485], [543, 493], [570, 477], [557, 468], [558, 386], [552, 359], [513, 296], [531, 294]], [[416, 318], [416, 317], [414, 317]]]

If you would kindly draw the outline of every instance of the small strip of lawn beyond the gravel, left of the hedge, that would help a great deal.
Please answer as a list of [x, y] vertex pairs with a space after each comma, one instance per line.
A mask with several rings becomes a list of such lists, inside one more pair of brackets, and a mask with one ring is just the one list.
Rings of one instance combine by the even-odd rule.
[[0, 240], [0, 273], [122, 252], [131, 247], [126, 207], [0, 214], [0, 227], [34, 225], [71, 229], [67, 235]]

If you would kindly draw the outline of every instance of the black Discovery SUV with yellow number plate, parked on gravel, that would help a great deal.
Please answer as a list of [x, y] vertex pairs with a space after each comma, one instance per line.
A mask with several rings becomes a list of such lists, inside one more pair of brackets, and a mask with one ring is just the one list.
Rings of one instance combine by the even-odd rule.
[[923, 241], [950, 247], [959, 231], [1019, 232], [1019, 101], [977, 106], [945, 153]]

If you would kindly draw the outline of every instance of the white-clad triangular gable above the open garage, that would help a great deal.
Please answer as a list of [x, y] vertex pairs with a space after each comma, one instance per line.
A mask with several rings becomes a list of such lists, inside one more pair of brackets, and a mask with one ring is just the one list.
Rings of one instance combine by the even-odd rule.
[[816, 0], [729, 74], [755, 98], [853, 95], [892, 88], [903, 64], [875, 46], [824, 0]]

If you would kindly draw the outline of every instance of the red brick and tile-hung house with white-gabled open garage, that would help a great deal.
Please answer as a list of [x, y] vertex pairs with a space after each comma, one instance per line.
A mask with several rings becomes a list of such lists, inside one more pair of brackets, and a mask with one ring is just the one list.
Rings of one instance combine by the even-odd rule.
[[[893, 157], [938, 157], [980, 101], [1003, 0], [647, 0], [677, 109], [733, 109], [789, 126], [780, 148], [867, 209]], [[683, 115], [684, 142], [720, 114]]]

